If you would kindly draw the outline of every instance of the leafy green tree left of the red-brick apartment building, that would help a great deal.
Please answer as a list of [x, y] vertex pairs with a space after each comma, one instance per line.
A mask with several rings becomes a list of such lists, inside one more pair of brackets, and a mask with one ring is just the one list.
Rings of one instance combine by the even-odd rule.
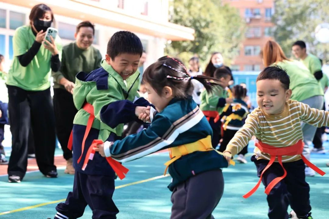
[[165, 48], [168, 55], [187, 64], [193, 55], [208, 62], [212, 52], [220, 52], [226, 65], [239, 55], [245, 23], [236, 8], [218, 0], [173, 0], [169, 9], [169, 21], [193, 28], [195, 40], [168, 43]]

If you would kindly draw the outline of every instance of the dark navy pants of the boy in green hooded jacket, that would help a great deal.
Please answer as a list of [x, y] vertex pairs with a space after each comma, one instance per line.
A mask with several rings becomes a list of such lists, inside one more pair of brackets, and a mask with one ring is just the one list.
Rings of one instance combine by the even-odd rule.
[[87, 175], [75, 171], [73, 191], [68, 193], [65, 203], [56, 206], [56, 215], [59, 217], [55, 216], [54, 219], [79, 218], [87, 205], [92, 210], [92, 219], [114, 219], [119, 210], [112, 200], [113, 192], [113, 176]]

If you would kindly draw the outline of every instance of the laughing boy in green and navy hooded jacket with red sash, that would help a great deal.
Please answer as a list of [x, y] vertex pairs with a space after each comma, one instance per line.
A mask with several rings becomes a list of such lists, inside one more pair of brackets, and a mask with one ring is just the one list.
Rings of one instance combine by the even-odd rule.
[[[138, 120], [138, 117], [144, 121], [149, 119], [146, 116], [149, 110], [144, 107], [149, 103], [136, 98], [137, 68], [142, 51], [141, 41], [134, 33], [116, 32], [108, 42], [102, 67], [88, 75], [77, 74], [73, 101], [79, 111], [71, 134], [75, 168], [73, 191], [68, 193], [65, 203], [57, 205], [54, 219], [79, 218], [87, 205], [92, 210], [92, 218], [116, 218], [119, 210], [112, 200], [116, 169], [113, 160], [93, 154], [90, 149], [94, 140], [121, 139], [123, 123]], [[69, 145], [70, 142], [72, 139]], [[115, 165], [122, 168], [118, 163]], [[116, 171], [121, 179], [127, 169], [124, 171]]]

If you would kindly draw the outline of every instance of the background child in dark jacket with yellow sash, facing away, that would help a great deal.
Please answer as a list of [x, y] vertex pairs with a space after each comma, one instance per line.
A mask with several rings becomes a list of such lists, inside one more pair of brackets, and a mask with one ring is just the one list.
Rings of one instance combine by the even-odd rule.
[[[234, 137], [235, 133], [243, 126], [244, 118], [249, 113], [247, 104], [242, 100], [246, 93], [242, 86], [235, 85], [232, 89], [233, 93], [233, 103], [229, 106], [226, 111], [226, 115], [222, 118], [222, 129], [223, 129], [223, 141], [220, 143], [219, 151], [224, 152], [226, 150], [226, 145]], [[238, 161], [240, 163], [246, 164], [247, 161], [244, 155], [247, 153], [247, 147], [239, 153]]]

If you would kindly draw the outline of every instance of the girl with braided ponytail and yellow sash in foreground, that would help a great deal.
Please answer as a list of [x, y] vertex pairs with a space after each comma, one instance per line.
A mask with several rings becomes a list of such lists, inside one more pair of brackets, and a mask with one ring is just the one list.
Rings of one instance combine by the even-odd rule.
[[192, 79], [200, 81], [208, 92], [219, 82], [206, 76], [191, 77], [180, 61], [167, 56], [150, 65], [143, 81], [159, 112], [154, 117], [151, 113], [150, 127], [95, 148], [102, 156], [120, 162], [168, 148], [171, 160], [165, 165], [172, 177], [168, 186], [173, 192], [171, 219], [213, 218], [224, 188], [220, 168], [228, 165], [211, 145], [212, 129], [191, 97]]

